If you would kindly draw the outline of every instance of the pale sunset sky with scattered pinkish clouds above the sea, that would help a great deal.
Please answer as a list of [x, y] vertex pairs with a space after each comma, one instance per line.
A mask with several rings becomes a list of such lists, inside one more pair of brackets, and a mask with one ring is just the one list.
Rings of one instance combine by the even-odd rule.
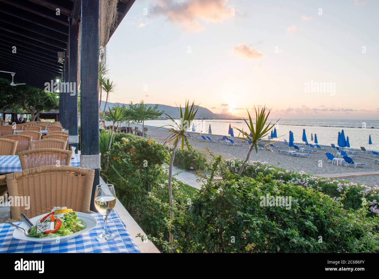
[[109, 101], [376, 120], [378, 12], [377, 0], [136, 0], [107, 46]]

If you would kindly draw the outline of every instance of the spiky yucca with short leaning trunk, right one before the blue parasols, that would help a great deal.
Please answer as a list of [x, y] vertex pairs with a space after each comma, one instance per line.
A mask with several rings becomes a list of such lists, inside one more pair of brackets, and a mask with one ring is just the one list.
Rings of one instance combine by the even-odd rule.
[[255, 129], [254, 129], [254, 123], [251, 119], [251, 116], [248, 110], [247, 110], [247, 114], [249, 115], [249, 122], [247, 122], [245, 118], [243, 118], [243, 120], [245, 121], [247, 127], [249, 128], [249, 131], [243, 131], [243, 129], [241, 130], [234, 127], [235, 129], [240, 131], [240, 133], [242, 134], [242, 137], [238, 137], [239, 139], [244, 140], [246, 142], [250, 142], [249, 151], [247, 151], [246, 159], [243, 162], [241, 169], [238, 172], [238, 175], [241, 175], [241, 173], [243, 172], [243, 169], [247, 161], [249, 161], [249, 157], [253, 148], [255, 149], [255, 152], [258, 154], [258, 144], [262, 145], [263, 148], [272, 151], [270, 148], [267, 147], [270, 143], [272, 143], [271, 141], [265, 140], [265, 141], [260, 142], [259, 140], [267, 136], [269, 131], [275, 126], [275, 124], [279, 120], [277, 120], [272, 125], [270, 121], [270, 123], [266, 125], [267, 118], [270, 115], [271, 109], [267, 113], [266, 113], [266, 107], [263, 107], [262, 110], [259, 110], [259, 107], [258, 107], [258, 112], [255, 106], [254, 106], [254, 109], [255, 109]]

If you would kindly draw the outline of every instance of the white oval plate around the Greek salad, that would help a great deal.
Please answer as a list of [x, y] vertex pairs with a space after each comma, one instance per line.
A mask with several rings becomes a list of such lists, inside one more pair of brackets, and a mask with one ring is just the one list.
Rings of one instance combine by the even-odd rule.
[[[96, 227], [97, 220], [93, 216], [91, 216], [87, 213], [82, 213], [82, 212], [78, 212], [78, 211], [76, 211], [76, 213], [78, 214], [78, 218], [86, 224], [86, 228], [84, 230], [81, 230], [81, 231], [76, 232], [76, 233], [72, 233], [70, 235], [60, 236], [60, 239], [59, 239], [60, 242], [74, 238], [74, 237], [81, 235], [85, 232], [88, 232], [89, 230], [92, 230], [94, 227]], [[37, 224], [37, 222], [39, 220], [41, 220], [41, 218], [46, 216], [46, 214], [42, 214], [42, 215], [36, 216], [34, 218], [31, 218], [30, 221], [35, 225], [35, 224]], [[30, 229], [29, 225], [26, 222], [22, 222], [21, 225], [19, 225], [19, 227], [22, 227], [25, 230]], [[41, 243], [52, 243], [52, 242], [56, 242], [56, 240], [57, 240], [56, 237], [49, 237], [49, 236], [46, 236], [44, 238], [29, 237], [29, 236], [25, 235], [23, 230], [18, 229], [18, 228], [14, 228], [13, 238], [16, 238], [19, 240], [24, 240], [24, 241], [34, 241], [34, 242], [41, 242]]]

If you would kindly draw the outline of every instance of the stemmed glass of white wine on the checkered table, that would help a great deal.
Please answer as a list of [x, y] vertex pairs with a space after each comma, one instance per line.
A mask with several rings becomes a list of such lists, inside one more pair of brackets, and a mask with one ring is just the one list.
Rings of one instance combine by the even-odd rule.
[[100, 214], [103, 215], [104, 229], [103, 233], [96, 237], [99, 241], [108, 241], [114, 238], [114, 234], [108, 232], [106, 221], [108, 215], [112, 212], [116, 205], [116, 193], [114, 192], [114, 186], [112, 184], [100, 184], [96, 186], [95, 191], [95, 207]]

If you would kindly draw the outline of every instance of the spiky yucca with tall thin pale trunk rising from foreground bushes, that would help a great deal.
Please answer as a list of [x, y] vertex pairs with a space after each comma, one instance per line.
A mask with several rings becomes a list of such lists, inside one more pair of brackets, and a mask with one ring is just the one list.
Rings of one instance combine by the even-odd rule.
[[[199, 106], [195, 106], [195, 102], [192, 102], [192, 105], [189, 106], [189, 102], [186, 102], [186, 106], [183, 107], [184, 113], [182, 110], [182, 106], [179, 104], [179, 107], [177, 107], [179, 113], [180, 113], [180, 123], [176, 123], [174, 118], [172, 118], [167, 113], [164, 113], [171, 121], [171, 125], [164, 125], [162, 127], [168, 127], [167, 131], [170, 133], [169, 136], [164, 140], [165, 143], [169, 143], [174, 141], [174, 147], [172, 148], [171, 158], [170, 158], [170, 164], [168, 168], [168, 194], [170, 198], [170, 220], [172, 221], [174, 219], [174, 200], [172, 199], [172, 187], [171, 187], [171, 180], [172, 180], [172, 165], [174, 164], [175, 159], [175, 151], [178, 147], [179, 142], [181, 142], [181, 149], [183, 154], [184, 146], [190, 147], [190, 144], [188, 142], [186, 131], [191, 127], [191, 123], [194, 120], [197, 109], [199, 109]], [[162, 128], [159, 127], [159, 128]], [[171, 127], [171, 128], [170, 128]], [[170, 246], [173, 247], [173, 235], [171, 231], [169, 232], [169, 242]]]

